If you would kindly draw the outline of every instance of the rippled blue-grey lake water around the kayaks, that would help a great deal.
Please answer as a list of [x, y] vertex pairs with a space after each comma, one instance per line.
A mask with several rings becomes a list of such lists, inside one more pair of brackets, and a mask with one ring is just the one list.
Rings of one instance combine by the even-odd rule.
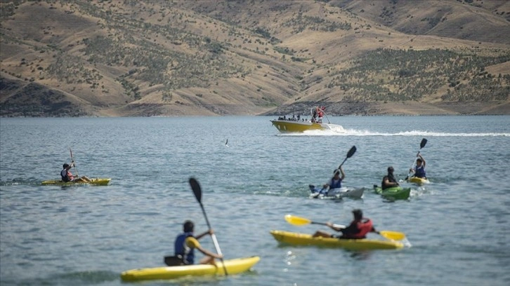
[[[329, 119], [345, 132], [301, 135], [270, 119], [1, 118], [0, 284], [121, 285], [122, 271], [163, 266], [185, 219], [207, 229], [188, 184], [196, 177], [225, 259], [261, 261], [227, 278], [143, 285], [510, 285], [510, 116], [339, 116]], [[409, 185], [409, 200], [372, 193], [388, 165], [407, 175], [422, 138], [431, 184]], [[326, 182], [353, 145], [344, 186], [364, 197], [308, 198], [308, 184]], [[70, 148], [74, 174], [111, 184], [41, 186], [58, 179]], [[349, 252], [269, 234], [327, 230], [285, 214], [348, 224], [355, 208], [412, 246]]]

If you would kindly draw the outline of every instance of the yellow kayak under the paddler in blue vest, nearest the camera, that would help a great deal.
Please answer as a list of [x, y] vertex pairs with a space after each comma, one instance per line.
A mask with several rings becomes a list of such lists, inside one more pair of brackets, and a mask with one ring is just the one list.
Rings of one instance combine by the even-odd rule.
[[[224, 260], [227, 274], [237, 274], [249, 270], [257, 262], [260, 257], [246, 257]], [[124, 271], [120, 274], [122, 281], [142, 281], [142, 280], [166, 280], [180, 278], [183, 276], [198, 275], [225, 275], [223, 264], [216, 261], [216, 266], [211, 264], [193, 264], [183, 266], [164, 266], [155, 268], [138, 268]]]

